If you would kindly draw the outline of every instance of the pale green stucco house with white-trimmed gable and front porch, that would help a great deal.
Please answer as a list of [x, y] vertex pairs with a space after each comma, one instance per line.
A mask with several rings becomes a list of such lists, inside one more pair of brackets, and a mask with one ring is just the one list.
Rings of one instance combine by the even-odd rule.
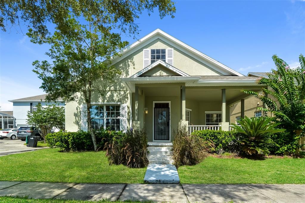
[[[173, 129], [229, 130], [230, 105], [260, 91], [247, 77], [157, 29], [121, 51], [112, 65], [123, 72], [105, 95], [92, 94], [92, 126], [126, 131], [145, 127], [149, 141], [172, 141]], [[102, 82], [101, 82], [102, 83]], [[81, 94], [66, 104], [66, 130], [88, 130]], [[242, 107], [241, 107], [242, 109]]]

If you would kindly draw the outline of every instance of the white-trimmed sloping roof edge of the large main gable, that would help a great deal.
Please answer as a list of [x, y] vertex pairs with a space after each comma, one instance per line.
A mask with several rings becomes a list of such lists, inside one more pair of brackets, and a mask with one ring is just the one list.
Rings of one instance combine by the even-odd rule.
[[130, 54], [134, 53], [135, 51], [137, 51], [138, 49], [140, 49], [141, 45], [145, 46], [145, 45], [149, 44], [151, 41], [153, 41], [157, 38], [159, 38], [159, 39], [161, 39], [161, 40], [163, 40], [163, 41], [165, 41], [168, 44], [171, 44], [173, 46], [174, 45], [179, 45], [180, 47], [182, 47], [184, 49], [183, 51], [185, 51], [186, 53], [191, 55], [193, 58], [198, 59], [199, 61], [203, 61], [203, 63], [208, 62], [209, 65], [211, 65], [211, 67], [213, 69], [215, 69], [217, 71], [220, 71], [220, 72], [226, 72], [227, 74], [225, 74], [225, 75], [244, 76], [243, 74], [229, 68], [228, 66], [225, 66], [224, 64], [222, 64], [221, 62], [211, 58], [210, 56], [205, 55], [202, 52], [199, 52], [197, 49], [185, 44], [184, 42], [176, 39], [175, 37], [167, 34], [166, 32], [164, 32], [163, 30], [160, 30], [160, 29], [156, 29], [156, 30], [152, 31], [148, 35], [142, 37], [138, 41], [134, 42], [133, 44], [131, 44], [128, 47], [121, 50], [119, 52], [120, 57], [117, 56], [117, 57], [113, 58], [113, 61], [112, 61], [113, 64], [122, 60], [122, 59], [124, 59], [128, 55], [130, 55]]

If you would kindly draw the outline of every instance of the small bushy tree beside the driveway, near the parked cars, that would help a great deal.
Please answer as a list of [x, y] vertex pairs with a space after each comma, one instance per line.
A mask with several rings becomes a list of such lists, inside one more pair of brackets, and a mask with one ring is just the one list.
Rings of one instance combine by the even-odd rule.
[[27, 112], [27, 118], [27, 123], [38, 128], [44, 141], [45, 136], [52, 129], [65, 129], [65, 109], [59, 105], [52, 104], [42, 107], [41, 104], [38, 104], [36, 111]]

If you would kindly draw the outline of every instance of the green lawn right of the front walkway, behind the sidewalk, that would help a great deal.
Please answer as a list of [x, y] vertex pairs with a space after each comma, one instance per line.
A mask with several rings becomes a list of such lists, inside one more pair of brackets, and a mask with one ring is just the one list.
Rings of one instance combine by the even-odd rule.
[[268, 183], [305, 184], [305, 158], [246, 158], [207, 157], [195, 166], [181, 166], [181, 183]]

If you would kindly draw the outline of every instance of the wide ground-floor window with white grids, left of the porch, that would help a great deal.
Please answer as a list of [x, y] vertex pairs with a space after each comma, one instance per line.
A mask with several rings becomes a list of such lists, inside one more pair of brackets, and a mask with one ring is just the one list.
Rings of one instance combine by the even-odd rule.
[[91, 105], [91, 126], [95, 130], [120, 130], [120, 105]]

